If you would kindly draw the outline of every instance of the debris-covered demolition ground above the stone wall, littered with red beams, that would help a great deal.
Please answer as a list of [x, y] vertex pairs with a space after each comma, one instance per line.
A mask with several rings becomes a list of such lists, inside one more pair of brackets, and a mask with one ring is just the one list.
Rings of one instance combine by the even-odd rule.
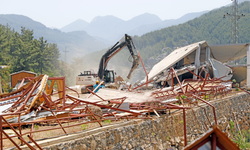
[[[172, 68], [169, 74], [172, 74], [173, 82], [173, 76], [175, 75], [177, 77], [175, 70]], [[28, 98], [33, 98], [36, 94], [32, 93], [35, 88], [37, 88], [39, 89], [38, 91], [41, 96], [35, 97], [36, 101], [33, 100], [32, 105], [25, 105], [28, 102], [28, 98], [26, 98], [24, 101], [25, 104], [22, 104], [18, 109], [15, 107], [15, 109], [17, 109], [16, 111], [23, 109], [23, 111], [27, 112], [30, 116], [21, 118], [21, 114], [19, 113], [18, 120], [14, 108], [11, 107], [13, 110], [10, 112], [14, 112], [12, 116], [13, 118], [16, 118], [16, 121], [14, 119], [9, 120], [12, 121], [11, 123], [13, 124], [13, 127], [2, 117], [4, 122], [9, 125], [5, 125], [5, 127], [7, 127], [6, 129], [9, 129], [8, 127], [10, 127], [16, 135], [13, 135], [13, 132], [8, 133], [15, 142], [11, 141], [10, 137], [5, 134], [4, 130], [3, 133], [5, 135], [3, 137], [8, 138], [9, 140], [2, 139], [3, 144], [1, 144], [1, 146], [4, 148], [10, 148], [13, 146], [18, 147], [21, 142], [24, 142], [31, 148], [31, 143], [28, 143], [29, 139], [32, 140], [34, 144], [36, 144], [34, 141], [36, 140], [39, 143], [37, 146], [48, 146], [49, 143], [45, 142], [44, 144], [44, 140], [53, 141], [52, 139], [55, 139], [56, 142], [60, 143], [65, 140], [67, 141], [69, 139], [69, 134], [77, 132], [74, 135], [75, 137], [78, 137], [78, 132], [82, 130], [91, 129], [97, 132], [98, 129], [102, 130], [103, 128], [100, 127], [105, 125], [111, 124], [111, 126], [116, 126], [116, 124], [119, 124], [120, 122], [127, 124], [130, 120], [139, 119], [142, 121], [143, 119], [152, 119], [168, 113], [182, 112], [178, 110], [183, 110], [185, 112], [185, 109], [196, 109], [202, 105], [209, 105], [209, 107], [213, 109], [214, 116], [212, 120], [217, 124], [215, 107], [210, 103], [228, 98], [228, 96], [233, 96], [241, 91], [239, 91], [239, 88], [236, 88], [237, 91], [236, 89], [232, 89], [232, 82], [223, 82], [216, 78], [207, 80], [207, 77], [208, 75], [205, 79], [200, 77], [200, 80], [194, 80], [193, 82], [179, 82], [177, 86], [165, 87], [163, 89], [142, 91], [138, 90], [138, 87], [141, 86], [140, 85], [136, 87], [138, 89], [128, 88], [126, 90], [116, 90], [101, 88], [96, 93], [81, 94], [80, 86], [75, 86], [75, 88], [65, 87], [64, 78], [48, 78], [46, 75], [39, 76], [19, 91], [25, 91], [26, 88], [29, 87], [27, 88], [27, 92], [31, 92], [28, 95]], [[47, 79], [52, 80], [50, 86], [46, 85]], [[57, 91], [54, 91], [53, 89], [55, 80], [57, 80]], [[38, 83], [41, 84], [39, 85]], [[38, 87], [44, 87], [45, 91], [42, 90], [43, 88]], [[27, 92], [24, 93], [27, 94]], [[40, 99], [43, 100], [43, 102], [41, 102]], [[20, 99], [15, 103], [18, 102], [22, 103], [23, 101]], [[38, 113], [47, 114], [37, 115], [34, 111], [26, 110], [29, 107], [25, 106], [37, 110]], [[31, 114], [31, 112], [34, 112], [34, 114]], [[185, 113], [183, 113], [183, 118], [185, 118], [184, 114]], [[7, 115], [9, 114], [7, 113]], [[26, 118], [30, 120], [26, 121]], [[21, 119], [24, 121], [22, 125], [20, 123]], [[35, 119], [35, 121], [32, 121], [32, 119]], [[210, 125], [212, 126], [211, 123]], [[185, 123], [184, 131], [186, 131]], [[184, 135], [185, 145], [187, 145], [186, 134], [184, 133]], [[17, 137], [21, 138], [21, 140]], [[55, 142], [51, 144], [55, 144]]]

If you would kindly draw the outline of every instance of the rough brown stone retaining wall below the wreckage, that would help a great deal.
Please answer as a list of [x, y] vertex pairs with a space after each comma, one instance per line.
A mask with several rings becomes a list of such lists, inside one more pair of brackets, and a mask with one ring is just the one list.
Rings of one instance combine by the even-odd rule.
[[[249, 129], [250, 98], [247, 94], [241, 93], [211, 103], [216, 108], [218, 127], [222, 131], [228, 132], [230, 120], [236, 122], [240, 129]], [[212, 108], [208, 105], [186, 110], [188, 142], [204, 133], [210, 124], [214, 124], [213, 118]], [[95, 129], [96, 132], [93, 134], [84, 134], [84, 132], [90, 132], [84, 131], [78, 139], [43, 147], [43, 149], [182, 149], [184, 146], [183, 124], [183, 114], [180, 110], [151, 120], [133, 120], [117, 126], [101, 127]]]

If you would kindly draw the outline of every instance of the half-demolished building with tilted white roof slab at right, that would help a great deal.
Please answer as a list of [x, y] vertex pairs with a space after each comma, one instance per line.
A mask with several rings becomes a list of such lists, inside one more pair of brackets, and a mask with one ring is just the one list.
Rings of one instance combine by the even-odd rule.
[[[236, 80], [240, 82], [246, 78], [247, 65], [228, 66], [224, 63], [245, 57], [247, 55], [247, 49], [249, 49], [248, 44], [210, 46], [206, 41], [193, 43], [175, 49], [167, 57], [154, 65], [148, 74], [148, 80], [153, 80], [155, 86], [162, 86], [171, 67], [175, 69], [181, 81], [188, 78], [197, 79], [197, 76], [190, 71], [199, 75], [202, 67], [205, 67], [211, 77], [221, 78], [227, 81], [234, 75], [233, 78], [236, 78]], [[245, 71], [239, 73], [239, 69]], [[203, 73], [201, 76], [204, 78], [205, 74]], [[170, 84], [170, 77], [168, 78], [168, 84]], [[146, 79], [143, 80], [143, 82], [146, 82]], [[176, 80], [175, 83], [177, 83]]]

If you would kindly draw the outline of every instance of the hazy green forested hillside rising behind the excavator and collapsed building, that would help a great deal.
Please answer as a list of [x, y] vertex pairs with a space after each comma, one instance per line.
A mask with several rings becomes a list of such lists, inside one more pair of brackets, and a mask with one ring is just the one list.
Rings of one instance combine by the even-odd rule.
[[[194, 42], [206, 40], [208, 44], [229, 44], [231, 36], [231, 21], [223, 19], [225, 13], [231, 13], [231, 7], [222, 7], [212, 10], [199, 18], [186, 23], [164, 28], [158, 31], [147, 33], [141, 37], [134, 36], [133, 40], [139, 50], [148, 71], [169, 54], [176, 47], [182, 47]], [[250, 2], [239, 4], [239, 13], [245, 14], [239, 20], [239, 43], [250, 42]], [[82, 64], [82, 68], [97, 68], [101, 56], [105, 50], [94, 52], [81, 59], [75, 64]], [[127, 58], [129, 53], [123, 50], [112, 58], [109, 66], [114, 66], [118, 73], [121, 68], [129, 68]], [[125, 71], [126, 72], [126, 71]], [[123, 74], [123, 77], [125, 75]]]

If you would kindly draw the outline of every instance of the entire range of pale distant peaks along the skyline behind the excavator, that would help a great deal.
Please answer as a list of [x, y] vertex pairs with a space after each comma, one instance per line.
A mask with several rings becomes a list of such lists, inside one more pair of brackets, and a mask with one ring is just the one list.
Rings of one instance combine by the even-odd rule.
[[[184, 23], [188, 20], [201, 16], [207, 11], [189, 13], [179, 19], [170, 19], [162, 21], [157, 15], [144, 13], [136, 16], [128, 21], [124, 21], [114, 16], [98, 16], [89, 24], [81, 24], [81, 22], [73, 22], [61, 30], [79, 31], [84, 30], [93, 37], [105, 39], [104, 42], [112, 44], [120, 39], [125, 33], [130, 35], [141, 36], [151, 31], [160, 30], [168, 26]], [[72, 25], [74, 24], [74, 26]], [[86, 25], [86, 26], [85, 26]], [[77, 28], [77, 27], [81, 28]], [[65, 30], [67, 29], [67, 30]]]

